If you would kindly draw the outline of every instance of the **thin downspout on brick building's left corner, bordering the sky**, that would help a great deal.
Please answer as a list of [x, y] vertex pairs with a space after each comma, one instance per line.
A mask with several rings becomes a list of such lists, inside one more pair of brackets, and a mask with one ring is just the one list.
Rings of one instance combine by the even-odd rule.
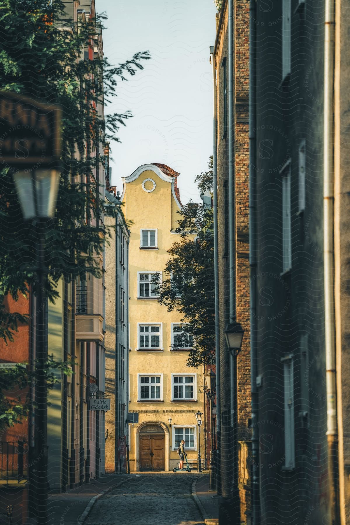
[[[218, 246], [218, 171], [217, 171], [217, 102], [216, 65], [214, 46], [210, 46], [210, 63], [213, 71], [213, 215], [214, 215], [214, 288], [215, 288], [215, 374], [216, 374], [216, 460], [215, 477], [218, 496], [221, 495], [221, 403], [220, 403], [220, 324], [219, 324], [219, 246]], [[210, 415], [211, 417], [211, 415]]]

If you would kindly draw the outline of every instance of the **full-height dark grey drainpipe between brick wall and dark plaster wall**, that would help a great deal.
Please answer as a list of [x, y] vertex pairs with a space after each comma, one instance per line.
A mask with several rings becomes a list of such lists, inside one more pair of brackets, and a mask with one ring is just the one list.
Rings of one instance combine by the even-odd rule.
[[260, 524], [259, 428], [257, 389], [257, 230], [256, 230], [256, 0], [250, 0], [249, 20], [249, 266], [250, 266], [250, 381], [251, 381], [251, 522]]

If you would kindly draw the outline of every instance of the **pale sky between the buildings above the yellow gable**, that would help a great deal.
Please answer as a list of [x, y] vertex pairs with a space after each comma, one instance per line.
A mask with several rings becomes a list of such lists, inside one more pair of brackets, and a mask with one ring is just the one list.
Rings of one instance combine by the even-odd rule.
[[112, 184], [141, 164], [159, 162], [180, 172], [183, 203], [199, 201], [194, 183], [213, 153], [213, 86], [209, 46], [215, 40], [213, 0], [96, 0], [108, 20], [104, 54], [112, 64], [149, 50], [128, 82], [119, 82], [118, 98], [107, 112], [134, 114], [121, 127], [122, 143], [111, 142]]

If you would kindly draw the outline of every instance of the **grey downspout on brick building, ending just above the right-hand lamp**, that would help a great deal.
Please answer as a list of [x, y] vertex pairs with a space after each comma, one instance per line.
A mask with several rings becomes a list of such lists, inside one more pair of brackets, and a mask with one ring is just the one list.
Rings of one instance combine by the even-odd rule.
[[234, 107], [234, 0], [228, 0], [228, 83], [227, 83], [227, 139], [228, 139], [228, 257], [229, 257], [229, 315], [236, 320], [235, 279], [235, 107]]

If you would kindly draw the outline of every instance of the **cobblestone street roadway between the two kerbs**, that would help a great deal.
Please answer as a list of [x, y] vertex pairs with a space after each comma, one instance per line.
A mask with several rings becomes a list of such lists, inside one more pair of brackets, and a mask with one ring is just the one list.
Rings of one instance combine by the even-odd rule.
[[96, 502], [86, 523], [94, 525], [200, 525], [200, 512], [191, 496], [199, 476], [141, 474]]

